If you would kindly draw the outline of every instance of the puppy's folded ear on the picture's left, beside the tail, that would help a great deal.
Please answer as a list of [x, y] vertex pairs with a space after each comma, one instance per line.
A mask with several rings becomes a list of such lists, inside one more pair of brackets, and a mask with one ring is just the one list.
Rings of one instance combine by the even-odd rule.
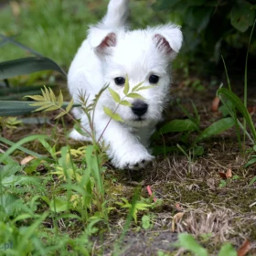
[[110, 29], [92, 27], [88, 35], [89, 44], [100, 56], [110, 55], [116, 46], [116, 34]]

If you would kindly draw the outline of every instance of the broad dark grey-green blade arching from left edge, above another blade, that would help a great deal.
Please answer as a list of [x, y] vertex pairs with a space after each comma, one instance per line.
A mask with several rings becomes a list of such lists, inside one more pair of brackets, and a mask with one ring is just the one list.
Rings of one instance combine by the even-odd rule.
[[66, 72], [52, 59], [45, 57], [29, 57], [0, 62], [0, 80], [42, 70], [56, 70], [63, 76], [67, 76]]

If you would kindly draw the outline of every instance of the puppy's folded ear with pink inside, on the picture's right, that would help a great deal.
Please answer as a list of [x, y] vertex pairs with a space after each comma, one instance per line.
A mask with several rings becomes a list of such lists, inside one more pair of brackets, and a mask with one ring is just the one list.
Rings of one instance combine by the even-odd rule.
[[168, 24], [155, 28], [153, 40], [155, 47], [173, 60], [181, 48], [183, 37], [180, 27]]

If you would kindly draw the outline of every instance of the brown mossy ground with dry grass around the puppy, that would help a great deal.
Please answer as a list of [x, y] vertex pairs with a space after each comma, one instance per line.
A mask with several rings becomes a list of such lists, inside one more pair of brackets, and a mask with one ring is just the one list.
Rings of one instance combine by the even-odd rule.
[[[167, 120], [187, 118], [175, 103], [175, 99], [180, 99], [180, 103], [191, 112], [190, 101], [193, 101], [200, 114], [200, 127], [204, 129], [221, 118], [221, 113], [211, 110], [211, 102], [218, 86], [210, 85], [208, 80], [200, 80], [200, 86], [195, 88], [191, 86], [194, 78], [186, 80], [191, 82], [186, 84], [184, 80], [176, 78], [172, 89], [173, 103]], [[235, 91], [240, 95], [240, 83], [234, 84]], [[253, 89], [249, 88], [251, 104], [255, 99], [253, 93]], [[70, 128], [72, 124], [69, 118], [65, 119], [65, 122]], [[5, 131], [5, 137], [17, 141], [27, 134], [27, 131], [48, 133], [52, 136], [52, 118], [49, 119], [49, 123], [26, 124], [13, 133]], [[64, 144], [65, 129], [63, 130], [62, 124], [59, 124], [57, 129], [58, 140], [60, 144]], [[190, 141], [193, 141], [193, 136], [191, 134]], [[178, 133], [165, 135], [164, 141], [157, 141], [157, 144], [161, 142], [167, 146], [182, 144]], [[74, 147], [82, 145], [75, 142], [71, 144]], [[177, 240], [179, 232], [195, 235], [211, 255], [217, 255], [220, 246], [225, 242], [230, 242], [238, 249], [245, 240], [251, 242], [250, 255], [255, 255], [256, 206], [253, 203], [256, 201], [256, 185], [254, 183], [249, 186], [249, 183], [256, 176], [256, 171], [255, 165], [244, 167], [250, 154], [240, 153], [234, 130], [213, 136], [200, 145], [204, 148], [204, 154], [201, 156], [189, 159], [178, 152], [171, 152], [165, 156], [157, 155], [154, 163], [140, 172], [115, 170], [111, 165], [106, 165], [105, 176], [110, 179], [110, 191], [107, 191], [109, 197], [132, 198], [134, 189], [139, 187], [142, 197], [148, 198], [150, 196], [146, 187], [150, 186], [156, 198], [155, 208], [146, 212], [151, 216], [150, 228], [142, 228], [143, 212], [139, 212], [138, 223], [132, 222], [123, 239], [122, 255], [156, 255], [157, 251], [174, 253], [166, 255], [185, 255], [184, 251], [178, 251], [172, 245]], [[30, 149], [37, 151], [37, 148], [31, 148], [31, 144], [29, 146]], [[250, 143], [246, 143], [245, 146], [247, 149], [251, 148]], [[16, 155], [17, 159], [22, 157]], [[92, 237], [92, 255], [112, 255], [115, 241], [123, 232], [126, 215], [127, 211], [123, 210], [116, 210], [110, 215], [110, 229], [102, 228]], [[62, 231], [65, 232], [65, 229]]]

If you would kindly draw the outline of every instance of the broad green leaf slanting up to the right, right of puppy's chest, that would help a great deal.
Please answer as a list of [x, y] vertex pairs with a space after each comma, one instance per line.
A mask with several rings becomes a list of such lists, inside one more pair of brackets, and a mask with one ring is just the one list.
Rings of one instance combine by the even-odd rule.
[[216, 123], [212, 123], [210, 126], [208, 126], [207, 129], [205, 129], [196, 139], [196, 142], [199, 142], [203, 139], [206, 139], [212, 135], [217, 135], [219, 133], [222, 133], [224, 131], [229, 130], [233, 125], [235, 124], [235, 121], [231, 117], [226, 117], [223, 119], [220, 119]]

